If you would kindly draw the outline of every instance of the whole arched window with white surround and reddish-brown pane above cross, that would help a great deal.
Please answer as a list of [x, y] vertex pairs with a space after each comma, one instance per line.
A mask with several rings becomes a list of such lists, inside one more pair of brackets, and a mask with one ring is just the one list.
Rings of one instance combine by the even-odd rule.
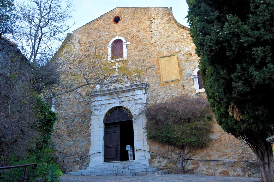
[[127, 42], [124, 37], [114, 37], [107, 46], [109, 62], [121, 61], [127, 59]]

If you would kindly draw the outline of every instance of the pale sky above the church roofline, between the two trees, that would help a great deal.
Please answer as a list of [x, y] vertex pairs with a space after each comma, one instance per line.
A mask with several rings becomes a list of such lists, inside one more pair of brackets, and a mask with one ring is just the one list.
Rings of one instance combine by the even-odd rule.
[[188, 26], [184, 17], [187, 15], [185, 0], [73, 0], [72, 13], [75, 25], [70, 32], [98, 18], [116, 7], [172, 7], [175, 19], [182, 25]]

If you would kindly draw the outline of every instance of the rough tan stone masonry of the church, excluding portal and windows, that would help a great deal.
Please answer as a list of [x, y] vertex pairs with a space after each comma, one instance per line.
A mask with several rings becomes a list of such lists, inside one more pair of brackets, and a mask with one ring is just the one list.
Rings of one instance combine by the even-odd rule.
[[[112, 23], [115, 16], [120, 16], [121, 22]], [[127, 44], [127, 60], [119, 61], [119, 64], [127, 62], [129, 70], [138, 68], [141, 71], [141, 82], [147, 82], [149, 85], [147, 103], [162, 102], [183, 93], [198, 95], [191, 78], [193, 70], [198, 67], [195, 45], [188, 29], [176, 22], [170, 8], [115, 8], [73, 31], [63, 43], [62, 49], [84, 54], [97, 47], [97, 52], [107, 56], [106, 47], [116, 36], [122, 36], [130, 42]], [[159, 57], [175, 53], [178, 56], [180, 80], [161, 83]], [[91, 60], [90, 58], [87, 61]], [[91, 89], [81, 88], [79, 92], [87, 93]], [[60, 123], [55, 125], [52, 141], [60, 158], [65, 160], [67, 171], [85, 169], [89, 162], [89, 157], [76, 164], [72, 162], [80, 156], [87, 156], [90, 147], [91, 109], [89, 97], [87, 94], [85, 96], [89, 104], [81, 106], [74, 101], [77, 94], [68, 94], [59, 98], [60, 106], [56, 108]], [[247, 145], [224, 132], [215, 121], [213, 126], [212, 143], [209, 147], [198, 150], [193, 159], [256, 161]], [[150, 151], [157, 153], [165, 151], [166, 148], [166, 145], [152, 140], [149, 145]], [[176, 166], [155, 155], [151, 156], [150, 165], [161, 169]], [[259, 175], [254, 165], [244, 162], [190, 161], [187, 168], [193, 168], [195, 174], [205, 175]]]

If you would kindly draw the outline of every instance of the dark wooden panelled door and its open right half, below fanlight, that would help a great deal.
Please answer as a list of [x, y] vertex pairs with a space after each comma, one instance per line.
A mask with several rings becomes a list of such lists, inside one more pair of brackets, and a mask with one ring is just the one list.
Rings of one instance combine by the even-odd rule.
[[134, 151], [132, 120], [105, 124], [105, 162], [129, 160], [126, 145]]

